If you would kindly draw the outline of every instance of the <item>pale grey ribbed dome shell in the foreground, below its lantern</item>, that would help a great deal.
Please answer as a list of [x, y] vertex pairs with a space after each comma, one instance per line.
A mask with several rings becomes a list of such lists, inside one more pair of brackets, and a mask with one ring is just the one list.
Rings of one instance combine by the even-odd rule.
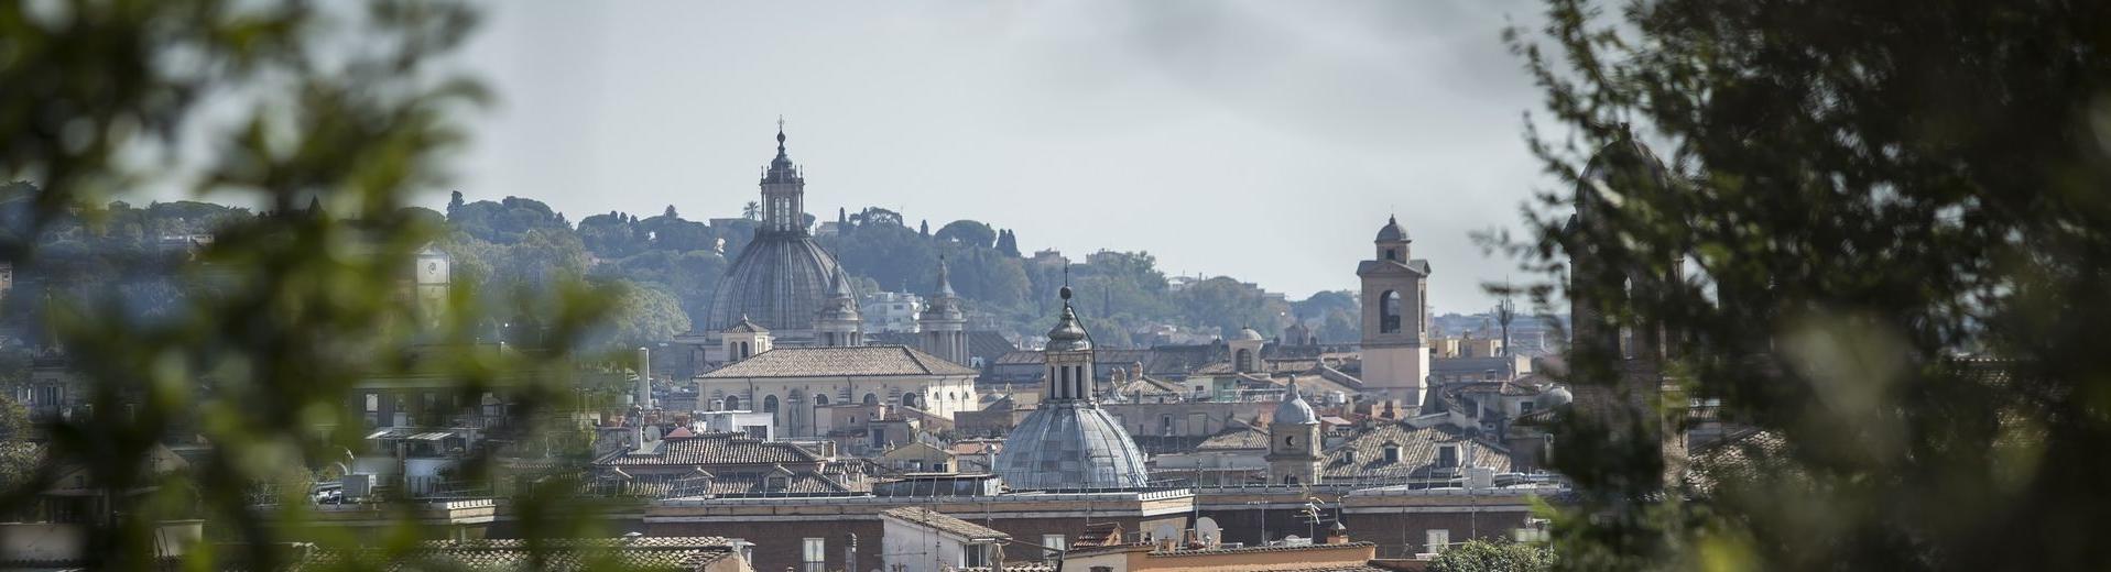
[[1089, 401], [1041, 403], [1005, 437], [996, 475], [1015, 490], [1142, 488], [1144, 452]]

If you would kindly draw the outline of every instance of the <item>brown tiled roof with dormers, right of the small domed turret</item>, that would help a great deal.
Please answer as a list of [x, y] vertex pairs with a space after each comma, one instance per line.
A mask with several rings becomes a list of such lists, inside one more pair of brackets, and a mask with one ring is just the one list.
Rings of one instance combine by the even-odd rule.
[[[1400, 460], [1387, 462], [1385, 447], [1397, 445]], [[1349, 437], [1349, 441], [1326, 452], [1326, 477], [1442, 477], [1438, 464], [1440, 445], [1459, 445], [1459, 466], [1488, 466], [1495, 473], [1509, 473], [1509, 454], [1495, 443], [1484, 443], [1461, 435], [1446, 424], [1412, 428], [1397, 422], [1381, 422]]]

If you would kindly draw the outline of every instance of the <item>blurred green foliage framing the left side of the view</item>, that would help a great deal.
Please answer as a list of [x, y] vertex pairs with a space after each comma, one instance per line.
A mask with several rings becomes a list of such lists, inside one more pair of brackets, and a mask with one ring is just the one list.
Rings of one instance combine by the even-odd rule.
[[[570, 395], [564, 348], [606, 306], [576, 287], [521, 302], [540, 308], [549, 352], [405, 350], [418, 319], [399, 285], [439, 228], [401, 207], [414, 190], [443, 188], [439, 158], [462, 139], [456, 118], [486, 99], [433, 65], [473, 23], [456, 2], [0, 2], [0, 179], [40, 188], [0, 260], [34, 274], [49, 224], [148, 184], [268, 211], [215, 228], [177, 268], [182, 295], [163, 319], [125, 312], [116, 289], [40, 285], [44, 327], [87, 380], [93, 412], [137, 407], [46, 420], [42, 462], [0, 492], [0, 507], [25, 507], [78, 466], [112, 502], [84, 523], [91, 568], [152, 568], [156, 523], [203, 517], [213, 542], [186, 555], [198, 570], [279, 570], [283, 542], [355, 542], [304, 526], [306, 466], [361, 447], [363, 424], [344, 407], [355, 382], [441, 374], [460, 380], [467, 403], [507, 382], [524, 418]], [[203, 125], [207, 99], [232, 103], [234, 118]], [[205, 133], [209, 152], [179, 146], [186, 131]], [[467, 291], [454, 298], [464, 312], [424, 340], [471, 340], [475, 306]], [[188, 473], [141, 471], [167, 435], [209, 447]], [[471, 462], [464, 477], [483, 466]], [[570, 500], [515, 507], [524, 534], [576, 532]], [[410, 549], [414, 528], [376, 534], [393, 538], [378, 555]]]

